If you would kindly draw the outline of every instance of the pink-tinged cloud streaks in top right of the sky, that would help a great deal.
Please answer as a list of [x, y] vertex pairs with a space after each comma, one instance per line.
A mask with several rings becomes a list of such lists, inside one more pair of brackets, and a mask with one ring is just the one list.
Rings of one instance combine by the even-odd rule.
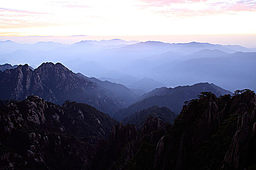
[[[142, 9], [156, 7], [154, 12], [162, 13], [164, 15], [173, 15], [177, 17], [186, 16], [203, 16], [215, 14], [236, 14], [240, 11], [256, 11], [256, 0], [234, 0], [226, 1], [219, 0], [213, 2], [212, 0], [140, 0], [145, 2], [145, 5], [139, 6]], [[193, 10], [188, 8], [176, 8], [175, 4], [198, 3], [204, 8]], [[165, 8], [162, 8], [165, 7]]]

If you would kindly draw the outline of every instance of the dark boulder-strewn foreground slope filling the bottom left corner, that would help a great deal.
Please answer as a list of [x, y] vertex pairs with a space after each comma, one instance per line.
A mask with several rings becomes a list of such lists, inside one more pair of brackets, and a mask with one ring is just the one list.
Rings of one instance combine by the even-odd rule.
[[29, 96], [0, 102], [0, 169], [90, 169], [95, 143], [117, 121], [92, 106]]

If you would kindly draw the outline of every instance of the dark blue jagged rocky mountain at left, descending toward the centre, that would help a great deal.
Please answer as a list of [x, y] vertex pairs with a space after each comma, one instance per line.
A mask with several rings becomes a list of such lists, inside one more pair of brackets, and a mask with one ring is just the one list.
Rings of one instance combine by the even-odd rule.
[[34, 71], [28, 65], [0, 72], [0, 98], [24, 100], [38, 95], [48, 102], [84, 102], [112, 114], [127, 103], [115, 93], [82, 79], [60, 63], [43, 63]]

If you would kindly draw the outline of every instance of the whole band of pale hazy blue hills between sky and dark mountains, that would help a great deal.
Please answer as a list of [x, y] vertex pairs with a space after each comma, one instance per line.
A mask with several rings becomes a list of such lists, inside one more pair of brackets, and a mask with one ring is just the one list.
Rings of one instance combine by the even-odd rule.
[[[84, 40], [70, 45], [54, 42], [0, 42], [2, 64], [17, 65], [28, 61], [29, 65], [36, 67], [43, 62], [60, 62], [74, 72], [89, 77], [103, 77], [127, 87], [148, 77], [171, 87], [213, 82], [232, 91], [242, 88], [256, 89], [256, 78], [253, 74], [256, 71], [253, 67], [256, 63], [256, 52], [236, 45], [198, 42], [171, 44], [120, 39]], [[126, 77], [120, 81], [121, 75], [134, 76], [138, 80]], [[132, 87], [138, 88], [134, 85]], [[140, 89], [148, 91], [146, 88]]]

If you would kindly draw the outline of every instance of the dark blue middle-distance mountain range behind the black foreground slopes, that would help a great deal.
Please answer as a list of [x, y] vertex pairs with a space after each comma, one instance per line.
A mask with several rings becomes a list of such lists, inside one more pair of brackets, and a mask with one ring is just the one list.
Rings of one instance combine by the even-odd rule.
[[[138, 87], [143, 85], [142, 80], [137, 81]], [[144, 82], [148, 91], [154, 88], [154, 84], [152, 86], [149, 82], [152, 80], [146, 79]], [[3, 100], [24, 100], [29, 95], [38, 95], [59, 105], [66, 100], [84, 102], [117, 120], [154, 105], [167, 107], [178, 114], [183, 102], [197, 98], [203, 91], [211, 91], [217, 96], [232, 94], [209, 83], [161, 87], [145, 93], [139, 89], [74, 73], [60, 63], [43, 63], [35, 70], [28, 65], [5, 69], [0, 71], [0, 85], [0, 98]]]

